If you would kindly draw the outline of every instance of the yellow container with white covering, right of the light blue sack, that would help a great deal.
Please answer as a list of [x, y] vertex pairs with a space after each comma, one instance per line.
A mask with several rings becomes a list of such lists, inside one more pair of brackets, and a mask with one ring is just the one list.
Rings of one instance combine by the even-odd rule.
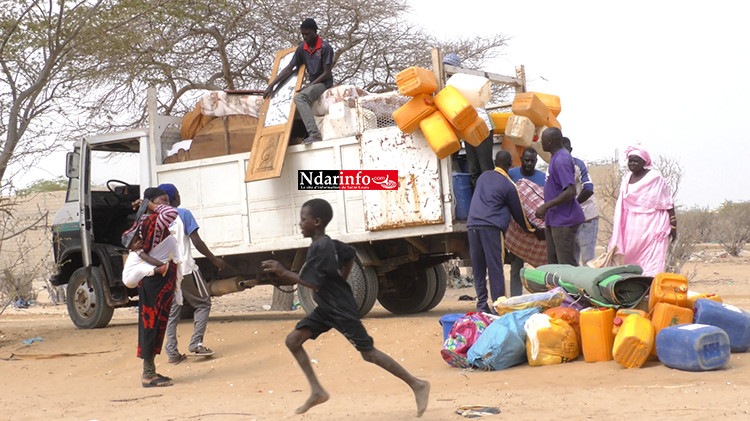
[[578, 358], [576, 334], [562, 319], [535, 314], [526, 321], [524, 329], [530, 366], [561, 364]]

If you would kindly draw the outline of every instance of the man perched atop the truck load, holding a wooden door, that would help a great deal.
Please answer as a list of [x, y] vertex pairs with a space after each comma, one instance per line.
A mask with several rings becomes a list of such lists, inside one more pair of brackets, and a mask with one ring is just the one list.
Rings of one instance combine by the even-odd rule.
[[305, 42], [297, 47], [292, 61], [268, 84], [263, 92], [263, 98], [271, 96], [277, 83], [286, 80], [292, 74], [292, 71], [304, 64], [310, 83], [295, 95], [294, 104], [297, 106], [299, 116], [307, 129], [307, 137], [303, 142], [313, 143], [319, 142], [322, 136], [318, 125], [315, 123], [315, 116], [310, 106], [316, 99], [320, 98], [326, 89], [333, 86], [333, 74], [331, 73], [333, 48], [318, 36], [318, 24], [312, 18], [302, 21], [299, 28]]

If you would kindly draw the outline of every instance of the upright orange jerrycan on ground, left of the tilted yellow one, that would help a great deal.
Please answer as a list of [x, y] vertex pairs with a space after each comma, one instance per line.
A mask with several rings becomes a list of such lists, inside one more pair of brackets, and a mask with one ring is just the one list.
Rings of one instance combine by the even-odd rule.
[[591, 308], [581, 311], [581, 347], [588, 363], [612, 359], [612, 325], [615, 310]]

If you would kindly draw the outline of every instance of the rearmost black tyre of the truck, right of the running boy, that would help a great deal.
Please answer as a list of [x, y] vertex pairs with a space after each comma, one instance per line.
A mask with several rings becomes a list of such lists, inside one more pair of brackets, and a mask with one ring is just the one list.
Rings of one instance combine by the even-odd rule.
[[378, 301], [391, 313], [419, 313], [435, 298], [437, 276], [432, 266], [425, 268], [410, 264], [389, 272], [386, 277], [390, 288], [378, 297]]

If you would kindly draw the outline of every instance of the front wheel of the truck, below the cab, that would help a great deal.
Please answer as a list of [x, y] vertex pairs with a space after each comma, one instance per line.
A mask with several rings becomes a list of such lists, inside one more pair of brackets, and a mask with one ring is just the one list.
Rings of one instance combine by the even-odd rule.
[[68, 315], [79, 329], [95, 329], [107, 326], [115, 309], [107, 305], [104, 298], [103, 276], [99, 268], [92, 270], [91, 287], [86, 284], [86, 269], [79, 268], [68, 281]]

